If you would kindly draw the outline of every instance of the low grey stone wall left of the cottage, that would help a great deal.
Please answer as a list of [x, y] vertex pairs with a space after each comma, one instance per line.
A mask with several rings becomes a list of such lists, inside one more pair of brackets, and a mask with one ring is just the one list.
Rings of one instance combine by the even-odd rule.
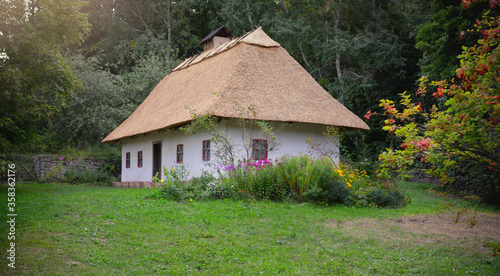
[[70, 166], [77, 170], [95, 171], [99, 169], [102, 164], [102, 161], [96, 161], [87, 157], [68, 160], [64, 157], [54, 155], [33, 156], [33, 170], [39, 179], [43, 178], [43, 176], [48, 172], [56, 169], [58, 173], [64, 173], [66, 168], [69, 168]]

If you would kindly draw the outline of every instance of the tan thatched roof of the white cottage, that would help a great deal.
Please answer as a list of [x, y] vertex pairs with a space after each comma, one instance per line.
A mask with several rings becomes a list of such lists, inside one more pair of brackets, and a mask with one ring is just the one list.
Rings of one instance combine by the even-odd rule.
[[237, 118], [236, 101], [258, 120], [369, 129], [258, 28], [180, 63], [103, 142], [188, 123], [187, 107]]

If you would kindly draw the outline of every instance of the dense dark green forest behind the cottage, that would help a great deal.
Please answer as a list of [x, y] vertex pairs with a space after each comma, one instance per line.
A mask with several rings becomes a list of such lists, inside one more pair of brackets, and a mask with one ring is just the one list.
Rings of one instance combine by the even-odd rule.
[[[2, 0], [0, 156], [109, 147], [101, 139], [222, 25], [235, 36], [262, 26], [363, 118], [421, 76], [453, 78], [478, 39], [461, 31], [486, 11], [460, 0]], [[383, 120], [343, 133], [343, 156], [374, 161], [397, 142]]]

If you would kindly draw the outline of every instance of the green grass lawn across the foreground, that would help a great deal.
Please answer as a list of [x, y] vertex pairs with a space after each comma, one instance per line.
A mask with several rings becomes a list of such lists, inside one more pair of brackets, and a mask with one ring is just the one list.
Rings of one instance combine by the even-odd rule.
[[[16, 185], [16, 262], [2, 275], [499, 275], [498, 211], [473, 229], [443, 206], [463, 202], [402, 183], [401, 209], [233, 200], [145, 200], [148, 189]], [[457, 208], [457, 207], [452, 207]]]

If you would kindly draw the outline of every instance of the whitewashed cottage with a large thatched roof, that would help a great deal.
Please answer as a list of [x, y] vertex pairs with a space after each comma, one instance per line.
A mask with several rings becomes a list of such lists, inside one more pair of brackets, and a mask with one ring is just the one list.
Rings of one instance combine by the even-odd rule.
[[[232, 38], [221, 27], [202, 40], [205, 50], [172, 70], [104, 143], [122, 145], [122, 183], [149, 183], [162, 167], [183, 163], [191, 175], [209, 170], [209, 133], [186, 135], [179, 126], [192, 121], [189, 109], [219, 118], [237, 154], [244, 158], [235, 108], [252, 107], [252, 118], [273, 127], [278, 147], [268, 152], [260, 133], [251, 137], [254, 159], [307, 153], [308, 138], [321, 141], [327, 126], [341, 131], [369, 129], [326, 92], [279, 43], [261, 28]], [[338, 149], [335, 149], [338, 151]], [[141, 185], [142, 186], [142, 185]]]

